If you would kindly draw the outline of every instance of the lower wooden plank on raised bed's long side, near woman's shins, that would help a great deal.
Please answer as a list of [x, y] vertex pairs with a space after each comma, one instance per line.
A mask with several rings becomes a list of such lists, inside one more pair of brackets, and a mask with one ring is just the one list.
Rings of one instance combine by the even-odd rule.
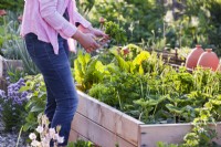
[[[72, 129], [102, 147], [115, 147], [116, 144], [119, 145], [119, 147], [136, 147], [135, 145], [128, 143], [127, 140], [120, 138], [116, 134], [113, 134], [112, 132], [97, 125], [78, 113], [76, 113], [74, 116]], [[133, 132], [130, 132], [130, 134], [133, 134]]]

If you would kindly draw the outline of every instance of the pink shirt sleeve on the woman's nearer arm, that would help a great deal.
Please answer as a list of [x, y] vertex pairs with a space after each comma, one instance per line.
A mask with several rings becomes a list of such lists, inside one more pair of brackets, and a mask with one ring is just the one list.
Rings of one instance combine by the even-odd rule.
[[56, 11], [57, 0], [39, 0], [41, 17], [48, 22], [54, 30], [64, 35], [64, 38], [71, 38], [77, 31], [77, 28], [70, 23]]

